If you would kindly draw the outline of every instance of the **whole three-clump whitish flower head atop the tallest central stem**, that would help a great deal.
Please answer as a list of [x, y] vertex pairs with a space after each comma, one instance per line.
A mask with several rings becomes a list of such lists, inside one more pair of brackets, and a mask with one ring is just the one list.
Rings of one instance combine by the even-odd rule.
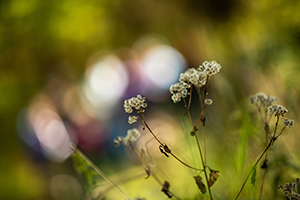
[[180, 74], [179, 82], [171, 85], [170, 92], [174, 103], [188, 95], [187, 89], [194, 86], [200, 88], [206, 84], [207, 78], [218, 73], [221, 69], [216, 61], [205, 61], [197, 69], [187, 69]]

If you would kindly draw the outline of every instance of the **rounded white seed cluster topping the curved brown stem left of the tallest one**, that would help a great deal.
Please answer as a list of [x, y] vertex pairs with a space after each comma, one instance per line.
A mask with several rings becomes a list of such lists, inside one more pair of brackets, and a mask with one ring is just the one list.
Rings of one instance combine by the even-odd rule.
[[132, 113], [132, 108], [134, 108], [137, 113], [143, 113], [145, 110], [143, 108], [147, 107], [145, 97], [137, 95], [137, 97], [132, 97], [124, 101], [124, 109], [126, 113]]

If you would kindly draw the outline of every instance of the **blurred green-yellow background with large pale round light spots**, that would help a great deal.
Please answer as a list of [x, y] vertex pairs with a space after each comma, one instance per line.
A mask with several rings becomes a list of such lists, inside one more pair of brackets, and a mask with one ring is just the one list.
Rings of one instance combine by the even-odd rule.
[[[124, 98], [143, 93], [152, 102], [148, 116], [157, 132], [174, 146], [180, 141], [170, 139], [170, 130], [178, 135], [184, 130], [176, 123], [181, 107], [172, 105], [164, 85], [172, 77], [167, 79], [168, 73], [159, 71], [162, 67], [141, 70], [153, 54], [166, 51], [171, 53], [157, 55], [163, 55], [171, 69], [180, 64], [174, 69], [176, 76], [204, 60], [222, 65], [210, 85], [214, 104], [207, 114], [208, 162], [221, 171], [212, 187], [216, 199], [233, 198], [265, 145], [249, 95], [273, 94], [289, 109], [295, 127], [272, 148], [264, 190], [265, 199], [283, 199], [278, 184], [300, 176], [299, 7], [299, 1], [283, 0], [0, 1], [0, 199], [83, 195], [87, 183], [76, 174], [67, 159], [70, 152], [62, 146], [69, 140], [108, 175], [122, 177], [119, 184], [128, 183], [124, 188], [129, 196], [165, 198], [155, 183], [150, 190], [148, 182], [140, 180], [142, 168], [131, 175], [138, 162], [114, 148], [112, 139], [130, 127]], [[105, 63], [113, 67], [103, 70]], [[249, 135], [240, 136], [244, 133]], [[154, 142], [149, 146], [158, 151]], [[185, 151], [191, 145], [174, 146], [184, 158], [196, 157]], [[173, 163], [166, 162], [173, 161], [165, 160], [159, 157], [157, 162], [167, 172]], [[192, 174], [180, 166], [172, 169], [165, 176], [180, 180], [176, 192], [193, 198], [188, 195], [192, 189], [178, 179]], [[257, 197], [251, 187], [242, 196]], [[154, 191], [157, 196], [151, 196]]]

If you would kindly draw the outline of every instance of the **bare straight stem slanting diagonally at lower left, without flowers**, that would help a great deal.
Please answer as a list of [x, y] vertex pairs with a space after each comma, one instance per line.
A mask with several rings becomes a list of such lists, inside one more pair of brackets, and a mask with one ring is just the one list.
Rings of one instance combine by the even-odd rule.
[[118, 190], [125, 199], [129, 200], [128, 196], [112, 181], [110, 180], [90, 159], [88, 159], [75, 144], [71, 143], [70, 147], [88, 164], [90, 165], [102, 178], [109, 182], [116, 190]]

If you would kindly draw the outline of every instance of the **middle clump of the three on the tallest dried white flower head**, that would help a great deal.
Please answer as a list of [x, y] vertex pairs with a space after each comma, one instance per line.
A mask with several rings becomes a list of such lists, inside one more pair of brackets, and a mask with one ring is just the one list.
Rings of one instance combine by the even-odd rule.
[[180, 74], [179, 81], [192, 84], [196, 87], [202, 87], [206, 83], [206, 73], [190, 68]]

